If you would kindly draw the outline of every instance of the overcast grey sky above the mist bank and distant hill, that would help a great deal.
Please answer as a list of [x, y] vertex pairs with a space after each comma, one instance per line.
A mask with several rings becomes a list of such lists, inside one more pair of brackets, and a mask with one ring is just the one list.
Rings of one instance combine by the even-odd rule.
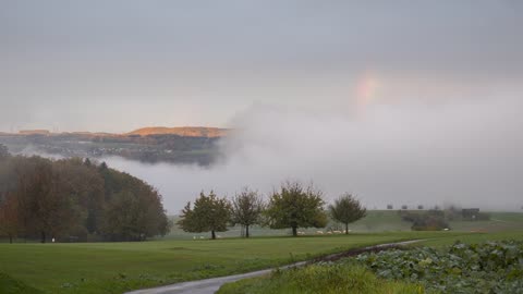
[[0, 131], [521, 97], [522, 3], [0, 0]]

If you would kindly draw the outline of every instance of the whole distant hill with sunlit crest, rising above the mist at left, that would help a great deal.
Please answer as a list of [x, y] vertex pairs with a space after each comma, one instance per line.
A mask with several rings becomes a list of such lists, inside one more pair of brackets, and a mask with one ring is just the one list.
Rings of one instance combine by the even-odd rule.
[[0, 144], [12, 154], [27, 148], [61, 157], [98, 158], [118, 156], [143, 162], [209, 166], [222, 156], [217, 142], [230, 130], [218, 127], [144, 127], [124, 134], [47, 130], [1, 134]]

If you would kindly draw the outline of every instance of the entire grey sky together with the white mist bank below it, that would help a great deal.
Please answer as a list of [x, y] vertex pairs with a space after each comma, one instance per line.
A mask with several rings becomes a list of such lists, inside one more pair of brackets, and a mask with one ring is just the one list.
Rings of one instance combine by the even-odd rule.
[[314, 181], [369, 207], [520, 209], [523, 2], [0, 0], [0, 132], [238, 132], [223, 162], [110, 164], [175, 213]]

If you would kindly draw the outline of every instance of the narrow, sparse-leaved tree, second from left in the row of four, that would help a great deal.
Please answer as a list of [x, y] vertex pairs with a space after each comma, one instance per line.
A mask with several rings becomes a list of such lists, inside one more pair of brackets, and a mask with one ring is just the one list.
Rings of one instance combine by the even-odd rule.
[[245, 236], [248, 237], [248, 228], [262, 222], [264, 200], [256, 191], [244, 187], [240, 194], [232, 198], [231, 222], [245, 228]]

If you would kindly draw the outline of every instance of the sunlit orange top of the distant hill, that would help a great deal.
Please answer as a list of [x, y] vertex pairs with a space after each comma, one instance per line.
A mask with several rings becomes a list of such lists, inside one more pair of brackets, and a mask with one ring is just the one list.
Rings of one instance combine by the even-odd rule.
[[124, 135], [139, 135], [139, 136], [149, 136], [149, 135], [178, 135], [182, 137], [223, 137], [230, 130], [228, 128], [218, 128], [218, 127], [204, 127], [204, 126], [182, 126], [182, 127], [143, 127], [136, 131], [126, 133]]

